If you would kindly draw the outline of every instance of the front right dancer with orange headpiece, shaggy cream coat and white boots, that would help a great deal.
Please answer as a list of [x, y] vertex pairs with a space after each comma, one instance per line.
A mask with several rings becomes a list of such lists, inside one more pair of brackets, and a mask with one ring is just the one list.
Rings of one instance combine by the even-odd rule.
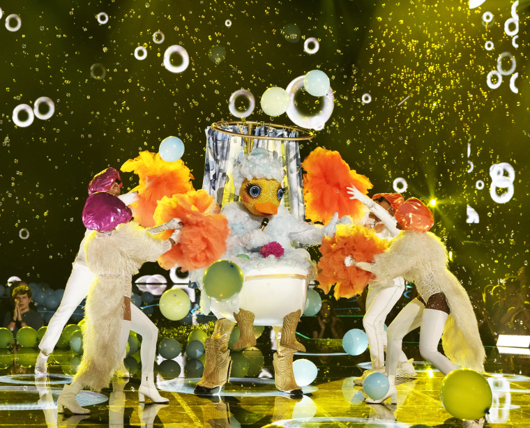
[[[411, 198], [398, 208], [395, 217], [404, 231], [388, 250], [375, 256], [372, 263], [345, 259], [346, 266], [369, 270], [379, 282], [402, 276], [416, 284], [420, 295], [388, 326], [386, 374], [390, 388], [382, 399], [367, 399], [370, 403], [381, 403], [388, 397], [396, 403], [395, 374], [402, 339], [418, 327], [421, 327], [421, 355], [441, 373], [448, 374], [455, 365], [478, 372], [484, 370], [485, 351], [469, 296], [447, 268], [446, 247], [428, 232], [434, 224], [432, 213], [419, 199]], [[440, 339], [447, 357], [438, 351]]]

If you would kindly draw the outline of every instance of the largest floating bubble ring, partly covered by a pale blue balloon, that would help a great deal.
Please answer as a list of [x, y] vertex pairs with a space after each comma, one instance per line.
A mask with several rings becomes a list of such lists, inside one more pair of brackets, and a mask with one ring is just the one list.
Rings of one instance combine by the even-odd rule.
[[329, 88], [326, 95], [315, 98], [304, 89], [305, 76], [298, 76], [289, 85], [287, 93], [291, 102], [287, 108], [287, 116], [301, 128], [321, 130], [333, 113], [335, 97]]

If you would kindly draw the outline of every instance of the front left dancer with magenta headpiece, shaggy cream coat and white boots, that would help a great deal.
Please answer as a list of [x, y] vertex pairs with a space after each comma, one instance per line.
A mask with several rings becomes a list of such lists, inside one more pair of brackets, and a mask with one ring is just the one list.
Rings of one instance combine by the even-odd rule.
[[153, 402], [169, 401], [160, 396], [154, 385], [158, 329], [130, 304], [130, 295], [132, 275], [145, 261], [156, 261], [170, 250], [178, 242], [180, 229], [169, 240], [160, 240], [130, 222], [131, 217], [130, 209], [109, 192], [96, 192], [86, 200], [83, 223], [92, 230], [85, 243], [86, 261], [95, 280], [86, 298], [84, 354], [73, 383], [65, 385], [57, 399], [59, 413], [65, 407], [73, 413], [89, 413], [75, 397], [84, 387], [98, 391], [109, 384], [125, 351], [131, 326], [144, 335], [139, 401], [143, 402], [145, 396]]

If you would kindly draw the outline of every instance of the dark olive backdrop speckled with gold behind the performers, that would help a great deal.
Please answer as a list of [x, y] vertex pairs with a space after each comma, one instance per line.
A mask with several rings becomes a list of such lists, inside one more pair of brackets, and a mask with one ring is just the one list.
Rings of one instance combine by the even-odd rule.
[[[204, 130], [213, 121], [235, 120], [230, 95], [248, 89], [257, 100], [248, 120], [269, 121], [259, 109], [262, 93], [315, 68], [331, 79], [335, 109], [324, 130], [301, 144], [302, 158], [324, 146], [340, 151], [376, 192], [393, 191], [394, 179], [402, 177], [404, 197], [436, 199], [433, 231], [446, 240], [451, 268], [467, 288], [515, 275], [529, 259], [529, 9], [520, 1], [515, 49], [504, 33], [511, 4], [0, 1], [2, 282], [17, 275], [62, 288], [84, 234], [80, 215], [94, 174], [119, 168], [139, 151], [156, 152], [162, 139], [176, 135], [200, 188]], [[482, 22], [486, 11], [494, 15], [489, 26]], [[105, 25], [96, 20], [100, 12], [109, 15]], [[11, 13], [22, 19], [19, 31], [4, 25]], [[296, 24], [298, 39], [286, 39], [287, 24]], [[155, 31], [165, 34], [164, 43], [153, 43]], [[308, 37], [320, 40], [316, 54], [303, 51]], [[162, 58], [179, 44], [190, 65], [174, 74]], [[143, 61], [133, 55], [138, 45], [148, 52]], [[226, 51], [219, 63], [209, 59], [216, 45]], [[501, 52], [515, 58], [519, 93], [510, 91], [510, 76], [499, 89], [486, 84]], [[91, 76], [94, 63], [105, 66], [105, 79]], [[503, 62], [508, 68], [510, 61]], [[369, 104], [361, 102], [364, 93], [372, 97]], [[33, 105], [40, 96], [54, 100], [54, 116], [17, 127], [15, 106]], [[273, 122], [292, 124], [285, 114]], [[515, 169], [515, 193], [506, 204], [490, 197], [489, 170], [498, 162]], [[132, 174], [123, 179], [124, 188], [137, 184]], [[466, 222], [467, 205], [477, 211], [478, 224]], [[26, 240], [19, 237], [22, 228], [29, 231]], [[142, 269], [160, 272], [153, 263]]]

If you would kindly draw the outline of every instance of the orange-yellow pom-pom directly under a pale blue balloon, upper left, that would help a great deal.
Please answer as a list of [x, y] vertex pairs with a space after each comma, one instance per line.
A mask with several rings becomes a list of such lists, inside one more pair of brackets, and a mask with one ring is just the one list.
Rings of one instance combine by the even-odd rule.
[[121, 171], [134, 172], [139, 178], [138, 201], [131, 204], [132, 215], [143, 227], [156, 225], [153, 219], [156, 204], [162, 197], [172, 197], [193, 190], [190, 169], [179, 159], [167, 162], [158, 153], [142, 151], [135, 159], [129, 159]]

